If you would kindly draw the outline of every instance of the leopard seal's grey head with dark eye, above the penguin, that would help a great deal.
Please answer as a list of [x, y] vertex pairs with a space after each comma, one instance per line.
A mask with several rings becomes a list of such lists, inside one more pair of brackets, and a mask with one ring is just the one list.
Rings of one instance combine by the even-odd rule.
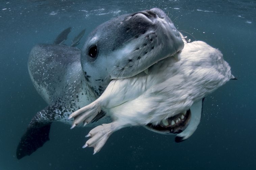
[[[158, 8], [121, 15], [98, 26], [81, 52], [81, 65], [92, 87], [132, 77], [173, 56], [184, 42], [171, 19]], [[91, 78], [93, 77], [93, 78]]]

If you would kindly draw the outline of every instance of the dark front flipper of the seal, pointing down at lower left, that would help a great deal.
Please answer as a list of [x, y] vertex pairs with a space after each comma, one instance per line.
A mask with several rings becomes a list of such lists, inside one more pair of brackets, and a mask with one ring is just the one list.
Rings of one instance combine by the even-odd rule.
[[49, 139], [51, 124], [54, 121], [53, 113], [49, 113], [50, 107], [36, 113], [30, 121], [25, 134], [21, 137], [16, 150], [17, 159], [31, 155], [42, 147]]

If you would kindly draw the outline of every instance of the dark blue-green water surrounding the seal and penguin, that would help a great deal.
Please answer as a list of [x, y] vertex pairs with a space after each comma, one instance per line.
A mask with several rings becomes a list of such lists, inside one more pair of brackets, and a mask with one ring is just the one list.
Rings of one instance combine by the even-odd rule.
[[[174, 136], [125, 128], [115, 132], [93, 156], [92, 148], [81, 148], [91, 128], [70, 130], [68, 125], [53, 123], [51, 140], [18, 161], [16, 147], [22, 134], [33, 115], [46, 106], [29, 78], [31, 48], [52, 43], [69, 26], [72, 32], [67, 43], [84, 28], [87, 35], [112, 17], [152, 7], [169, 13], [179, 30], [219, 48], [238, 78], [206, 97], [195, 134], [175, 143]], [[254, 169], [255, 22], [256, 1], [252, 0], [1, 0], [0, 170]]]

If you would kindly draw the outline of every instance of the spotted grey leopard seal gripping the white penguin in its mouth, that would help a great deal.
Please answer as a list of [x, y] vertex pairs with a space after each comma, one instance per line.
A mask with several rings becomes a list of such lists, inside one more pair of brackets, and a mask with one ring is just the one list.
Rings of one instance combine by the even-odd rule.
[[[66, 40], [66, 34], [58, 37], [63, 37], [58, 38], [59, 43]], [[49, 140], [52, 122], [71, 125], [70, 114], [96, 100], [112, 79], [132, 77], [183, 47], [173, 22], [158, 8], [124, 14], [101, 24], [88, 35], [82, 50], [61, 44], [33, 47], [29, 75], [48, 106], [29, 123], [18, 144], [17, 158], [31, 155]], [[87, 126], [110, 121], [99, 112]]]

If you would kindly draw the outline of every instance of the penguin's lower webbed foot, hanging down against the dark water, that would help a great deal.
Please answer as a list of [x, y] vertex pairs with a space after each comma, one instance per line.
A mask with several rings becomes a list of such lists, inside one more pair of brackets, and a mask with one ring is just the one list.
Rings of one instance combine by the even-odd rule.
[[115, 123], [102, 124], [92, 129], [88, 135], [85, 137], [91, 137], [89, 140], [85, 142], [85, 147], [93, 147], [94, 154], [100, 151], [100, 149], [104, 146], [109, 136], [118, 129], [118, 125]]

